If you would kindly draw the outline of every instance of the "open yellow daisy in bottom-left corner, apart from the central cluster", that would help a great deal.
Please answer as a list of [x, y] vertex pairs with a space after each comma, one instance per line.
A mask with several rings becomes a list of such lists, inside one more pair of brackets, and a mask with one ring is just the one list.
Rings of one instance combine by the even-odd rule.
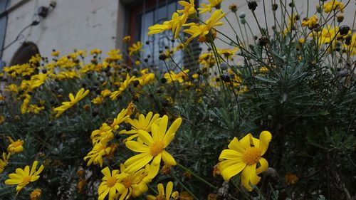
[[31, 171], [28, 165], [26, 165], [25, 169], [17, 168], [16, 173], [9, 174], [9, 179], [5, 181], [5, 184], [17, 185], [16, 191], [19, 193], [24, 186], [40, 178], [39, 174], [43, 171], [44, 167], [41, 164], [41, 167], [36, 171], [37, 164], [37, 161], [33, 162]]

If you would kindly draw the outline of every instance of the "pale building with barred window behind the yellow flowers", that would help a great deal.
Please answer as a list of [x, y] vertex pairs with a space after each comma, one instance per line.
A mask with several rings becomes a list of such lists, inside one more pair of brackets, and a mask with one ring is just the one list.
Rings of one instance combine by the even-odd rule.
[[[271, 1], [266, 1], [266, 13], [263, 12], [262, 2], [258, 2], [257, 19], [261, 26], [266, 27], [266, 18], [270, 22], [268, 29], [271, 29]], [[315, 14], [318, 2], [298, 0], [295, 1], [295, 8], [303, 19], [307, 12], [308, 16]], [[196, 6], [200, 3], [207, 3], [207, 0], [195, 0]], [[247, 8], [246, 0], [225, 0], [221, 4], [226, 16], [237, 28], [236, 16], [228, 9], [230, 4], [238, 6], [238, 15], [241, 11], [246, 12], [247, 21], [251, 21], [251, 31], [258, 36], [258, 26]], [[153, 48], [150, 51], [157, 58], [159, 51], [164, 50], [167, 43], [172, 43], [172, 34], [166, 31], [149, 38], [147, 28], [169, 20], [179, 8], [174, 0], [0, 0], [0, 66], [24, 63], [36, 53], [50, 56], [53, 49], [61, 51], [61, 55], [74, 49], [90, 51], [93, 48], [106, 53], [112, 48], [123, 48], [122, 38], [126, 35], [130, 35], [133, 42], [150, 41]], [[345, 12], [355, 14], [355, 9], [355, 0], [351, 0]], [[209, 14], [202, 15], [202, 19], [207, 17]], [[354, 23], [354, 16], [348, 15], [342, 24], [352, 26]], [[228, 23], [219, 30], [234, 36]], [[253, 39], [251, 34], [248, 36], [246, 40]], [[221, 48], [229, 47], [229, 44], [216, 42]], [[198, 47], [194, 45], [194, 48]]]

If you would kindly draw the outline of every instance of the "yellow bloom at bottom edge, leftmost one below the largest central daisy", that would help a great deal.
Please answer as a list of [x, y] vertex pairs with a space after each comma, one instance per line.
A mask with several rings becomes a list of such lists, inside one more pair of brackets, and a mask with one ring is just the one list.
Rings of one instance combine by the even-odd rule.
[[109, 200], [117, 199], [117, 195], [122, 194], [125, 189], [125, 186], [119, 182], [122, 179], [119, 170], [115, 169], [110, 172], [109, 167], [105, 167], [101, 170], [101, 173], [104, 174], [104, 177], [98, 188], [98, 200], [105, 199], [105, 196], [108, 196], [108, 194]]

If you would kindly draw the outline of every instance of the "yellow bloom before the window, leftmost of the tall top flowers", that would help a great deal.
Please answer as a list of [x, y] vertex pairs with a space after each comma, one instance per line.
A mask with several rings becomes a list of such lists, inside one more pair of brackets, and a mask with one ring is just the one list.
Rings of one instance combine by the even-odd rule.
[[[185, 22], [184, 22], [185, 23]], [[148, 27], [148, 36], [153, 34], [162, 33], [163, 31], [172, 30], [174, 38], [178, 38], [179, 30], [183, 25], [182, 18], [179, 14], [174, 13], [170, 21], [164, 21], [163, 24], [155, 24]]]

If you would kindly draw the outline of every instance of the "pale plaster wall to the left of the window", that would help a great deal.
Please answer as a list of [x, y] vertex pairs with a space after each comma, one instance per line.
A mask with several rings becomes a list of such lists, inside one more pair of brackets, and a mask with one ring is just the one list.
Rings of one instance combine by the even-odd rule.
[[[21, 3], [11, 1], [8, 9]], [[21, 39], [6, 49], [2, 60], [9, 63], [14, 52], [24, 41], [36, 43], [43, 56], [49, 56], [53, 48], [64, 55], [74, 48], [100, 48], [104, 52], [115, 48], [117, 36], [117, 0], [58, 0], [41, 23], [23, 32]], [[48, 6], [49, 0], [29, 0], [9, 13], [5, 46], [14, 41], [17, 34], [28, 26], [40, 6]]]

